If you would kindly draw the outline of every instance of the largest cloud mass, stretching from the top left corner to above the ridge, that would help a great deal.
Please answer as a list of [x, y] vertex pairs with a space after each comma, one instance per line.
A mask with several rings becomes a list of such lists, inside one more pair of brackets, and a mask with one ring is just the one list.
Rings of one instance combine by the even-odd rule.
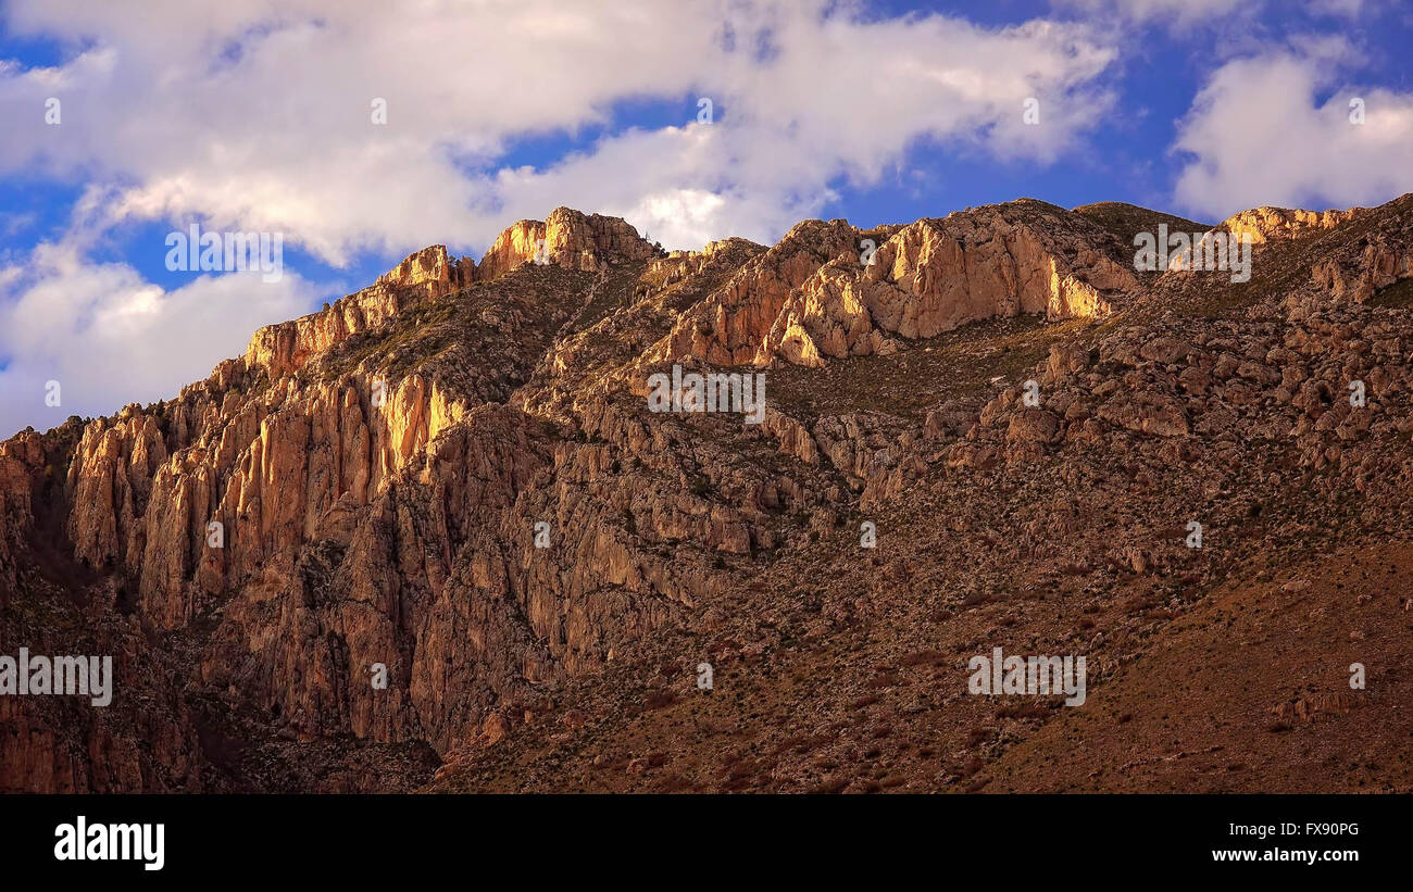
[[[13, 30], [88, 49], [0, 72], [0, 112], [35, 121], [0, 172], [90, 172], [124, 183], [114, 220], [284, 231], [333, 264], [483, 250], [561, 203], [644, 215], [632, 222], [670, 247], [779, 236], [831, 182], [872, 182], [918, 140], [1048, 162], [1111, 102], [1095, 79], [1113, 52], [1075, 24], [866, 20], [822, 1], [138, 6], [11, 4]], [[48, 96], [61, 127], [40, 126]], [[719, 110], [709, 127], [697, 96]], [[1026, 97], [1039, 127], [1022, 124]], [[504, 167], [519, 138], [609, 126], [644, 99], [681, 103], [681, 124]]]

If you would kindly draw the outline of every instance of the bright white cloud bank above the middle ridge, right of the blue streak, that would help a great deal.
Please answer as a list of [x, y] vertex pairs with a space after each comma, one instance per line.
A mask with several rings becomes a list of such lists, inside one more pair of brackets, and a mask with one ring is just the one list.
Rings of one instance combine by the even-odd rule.
[[[1092, 82], [1113, 55], [1077, 28], [938, 17], [821, 27], [783, 14], [764, 30], [769, 65], [735, 59], [701, 89], [715, 123], [632, 130], [545, 169], [500, 169], [479, 191], [503, 212], [483, 237], [567, 203], [625, 216], [667, 247], [773, 241], [818, 215], [836, 183], [877, 182], [920, 140], [1048, 162], [1112, 104]], [[1022, 123], [1031, 96], [1040, 126]]]

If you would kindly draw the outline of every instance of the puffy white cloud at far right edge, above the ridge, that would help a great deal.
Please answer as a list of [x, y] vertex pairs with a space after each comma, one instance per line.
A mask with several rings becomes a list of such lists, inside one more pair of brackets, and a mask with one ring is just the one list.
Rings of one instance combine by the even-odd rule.
[[1174, 144], [1184, 209], [1348, 207], [1413, 189], [1413, 93], [1334, 83], [1340, 41], [1301, 49], [1236, 59], [1207, 80]]

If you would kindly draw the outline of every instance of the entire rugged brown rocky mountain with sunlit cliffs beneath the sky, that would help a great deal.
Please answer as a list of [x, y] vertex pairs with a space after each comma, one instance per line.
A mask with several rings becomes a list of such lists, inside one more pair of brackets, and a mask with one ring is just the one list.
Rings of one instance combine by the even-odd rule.
[[1159, 226], [561, 207], [23, 432], [0, 655], [116, 682], [0, 696], [0, 790], [1409, 792], [1413, 195]]

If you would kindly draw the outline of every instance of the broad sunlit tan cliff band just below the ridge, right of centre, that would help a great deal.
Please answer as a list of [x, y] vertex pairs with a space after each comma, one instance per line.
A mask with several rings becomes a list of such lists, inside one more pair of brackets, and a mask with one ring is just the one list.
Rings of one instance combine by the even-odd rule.
[[684, 318], [657, 356], [820, 367], [893, 353], [894, 334], [935, 337], [981, 319], [1104, 316], [1137, 285], [1106, 233], [1043, 202], [872, 234], [844, 220], [801, 223]]

